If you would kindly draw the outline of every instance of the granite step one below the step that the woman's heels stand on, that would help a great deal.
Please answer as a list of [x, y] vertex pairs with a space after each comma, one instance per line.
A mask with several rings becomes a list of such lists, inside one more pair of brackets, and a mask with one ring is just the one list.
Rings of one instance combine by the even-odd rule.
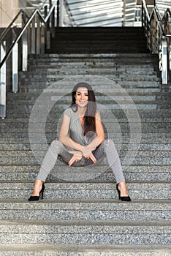
[[[1, 244], [170, 245], [170, 222], [0, 222]], [[143, 235], [143, 236], [142, 236]], [[19, 240], [19, 241], [18, 241]]]

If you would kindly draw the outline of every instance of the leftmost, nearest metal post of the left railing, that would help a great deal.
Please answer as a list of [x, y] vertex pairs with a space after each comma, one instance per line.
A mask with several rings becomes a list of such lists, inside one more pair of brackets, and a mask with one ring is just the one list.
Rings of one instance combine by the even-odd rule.
[[[1, 43], [1, 61], [6, 54], [6, 42]], [[0, 72], [0, 117], [6, 117], [6, 62]]]

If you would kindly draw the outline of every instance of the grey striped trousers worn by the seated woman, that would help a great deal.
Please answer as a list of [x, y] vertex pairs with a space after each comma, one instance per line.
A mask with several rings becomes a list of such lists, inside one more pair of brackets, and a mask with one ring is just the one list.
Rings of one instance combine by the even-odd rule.
[[[104, 140], [94, 151], [94, 157], [96, 160], [102, 159], [104, 154], [107, 157], [108, 165], [110, 166], [111, 170], [113, 171], [113, 175], [115, 176], [115, 181], [118, 184], [121, 181], [125, 181], [123, 176], [123, 171], [121, 167], [121, 162], [118, 156], [118, 152], [116, 151], [115, 144], [113, 140], [106, 139]], [[51, 143], [45, 158], [43, 159], [42, 165], [40, 167], [37, 179], [41, 181], [45, 181], [50, 170], [53, 169], [54, 165], [56, 164], [57, 157], [60, 156], [66, 164], [68, 164], [69, 160], [72, 158], [72, 154], [70, 154], [63, 143], [58, 140], [53, 140]], [[79, 166], [87, 166], [91, 165], [93, 162], [91, 159], [86, 159], [82, 157], [82, 159], [78, 162], [74, 162], [72, 166], [79, 167]]]

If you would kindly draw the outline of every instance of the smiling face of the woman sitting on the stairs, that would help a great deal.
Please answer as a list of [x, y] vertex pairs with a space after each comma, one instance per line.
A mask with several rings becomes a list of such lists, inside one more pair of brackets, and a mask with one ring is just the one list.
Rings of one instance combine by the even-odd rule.
[[75, 103], [80, 108], [85, 108], [88, 105], [88, 89], [86, 87], [80, 87], [75, 94]]

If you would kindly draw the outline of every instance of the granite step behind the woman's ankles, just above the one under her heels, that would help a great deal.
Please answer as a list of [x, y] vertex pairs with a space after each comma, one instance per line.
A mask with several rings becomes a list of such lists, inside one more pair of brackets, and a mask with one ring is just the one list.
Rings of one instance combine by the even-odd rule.
[[[170, 182], [134, 182], [127, 184], [132, 200], [170, 199]], [[33, 189], [32, 183], [1, 181], [0, 199], [27, 199]], [[118, 199], [115, 182], [57, 182], [46, 183], [44, 198], [48, 200], [110, 200]]]

